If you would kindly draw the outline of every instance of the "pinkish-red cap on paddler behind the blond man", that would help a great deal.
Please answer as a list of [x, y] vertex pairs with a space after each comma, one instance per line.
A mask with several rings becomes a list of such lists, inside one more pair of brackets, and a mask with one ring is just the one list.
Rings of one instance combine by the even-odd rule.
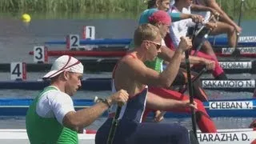
[[158, 10], [150, 16], [149, 21], [162, 22], [166, 25], [170, 25], [171, 19], [170, 19], [170, 15], [167, 14], [166, 11]]

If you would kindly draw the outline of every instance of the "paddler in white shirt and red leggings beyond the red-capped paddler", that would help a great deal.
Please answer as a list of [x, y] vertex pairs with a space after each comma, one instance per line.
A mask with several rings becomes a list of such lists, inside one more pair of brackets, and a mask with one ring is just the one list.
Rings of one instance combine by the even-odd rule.
[[[174, 6], [171, 6], [170, 11], [172, 13], [186, 13], [190, 14], [190, 6], [192, 4], [192, 0], [175, 0]], [[216, 28], [215, 22], [204, 22], [206, 27], [210, 28], [211, 30], [214, 30]], [[178, 22], [172, 22], [172, 25], [170, 26], [170, 39], [174, 43], [174, 47], [178, 46], [178, 43], [180, 42], [180, 38], [186, 36], [187, 30], [190, 26], [194, 26], [195, 23], [192, 22], [191, 19], [183, 19]], [[200, 38], [195, 38], [197, 41], [199, 40], [201, 42]], [[199, 42], [194, 42], [199, 43]], [[194, 54], [195, 50], [191, 51], [191, 54]], [[202, 52], [201, 52], [202, 51]], [[212, 59], [216, 62], [215, 69], [213, 71], [213, 76], [215, 79], [218, 80], [226, 80], [226, 74], [221, 66], [218, 65], [218, 59], [216, 57], [216, 54], [214, 54], [214, 50], [212, 46], [210, 46], [210, 42], [208, 42], [206, 39], [202, 42], [202, 49], [197, 53], [196, 56], [206, 59]]]

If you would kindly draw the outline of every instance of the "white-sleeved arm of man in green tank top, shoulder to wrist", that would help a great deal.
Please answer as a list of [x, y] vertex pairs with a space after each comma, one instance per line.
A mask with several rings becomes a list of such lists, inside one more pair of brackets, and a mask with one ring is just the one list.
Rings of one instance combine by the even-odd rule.
[[[112, 105], [112, 97], [108, 98], [108, 102]], [[94, 122], [107, 108], [106, 103], [99, 102], [90, 108], [75, 111], [74, 103], [70, 96], [56, 90], [40, 100], [37, 112], [42, 115], [45, 110], [50, 109], [60, 124], [72, 130], [79, 130]]]

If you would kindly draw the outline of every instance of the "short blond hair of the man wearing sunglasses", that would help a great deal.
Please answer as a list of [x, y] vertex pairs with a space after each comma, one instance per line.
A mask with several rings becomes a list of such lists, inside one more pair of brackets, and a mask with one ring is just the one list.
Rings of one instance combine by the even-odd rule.
[[141, 46], [144, 40], [154, 41], [160, 35], [157, 26], [150, 23], [142, 24], [134, 32], [134, 45]]

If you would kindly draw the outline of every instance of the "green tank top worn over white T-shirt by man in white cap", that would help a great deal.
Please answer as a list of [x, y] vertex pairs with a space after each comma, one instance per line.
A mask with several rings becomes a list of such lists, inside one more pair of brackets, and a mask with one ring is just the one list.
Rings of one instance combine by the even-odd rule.
[[26, 114], [26, 131], [31, 144], [77, 144], [78, 133], [62, 126], [56, 118], [42, 118], [36, 112], [36, 107], [42, 94], [49, 90], [57, 90], [48, 86], [30, 105]]

